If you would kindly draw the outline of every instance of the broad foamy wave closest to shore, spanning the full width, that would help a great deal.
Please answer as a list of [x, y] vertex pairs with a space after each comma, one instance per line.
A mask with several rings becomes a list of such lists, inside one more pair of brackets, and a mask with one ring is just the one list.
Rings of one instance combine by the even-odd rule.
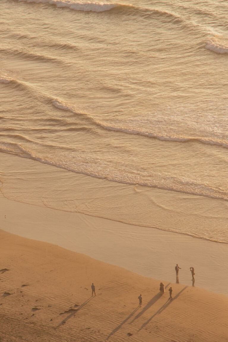
[[[20, 140], [26, 138], [20, 137]], [[33, 141], [34, 144], [39, 142]], [[50, 148], [55, 147], [50, 144], [44, 144], [43, 147]], [[174, 192], [198, 195], [208, 198], [223, 199], [228, 201], [228, 193], [224, 189], [215, 188], [207, 185], [201, 181], [189, 180], [185, 177], [169, 176], [160, 173], [152, 174], [148, 176], [139, 175], [132, 172], [131, 169], [119, 170], [112, 168], [109, 161], [100, 161], [95, 156], [80, 154], [78, 151], [73, 151], [71, 148], [64, 147], [64, 154], [66, 150], [69, 150], [72, 160], [55, 159], [54, 154], [51, 156], [39, 156], [31, 150], [27, 150], [25, 146], [21, 146], [19, 143], [1, 143], [0, 151], [16, 154], [23, 158], [29, 158], [37, 160], [39, 162], [49, 164], [58, 168], [62, 168], [71, 172], [80, 173], [95, 177], [98, 179], [106, 179], [108, 181], [117, 182], [121, 184], [140, 185], [147, 187], [155, 187], [164, 190], [172, 190]], [[61, 149], [58, 148], [58, 156], [61, 155]], [[102, 167], [101, 167], [102, 163]]]

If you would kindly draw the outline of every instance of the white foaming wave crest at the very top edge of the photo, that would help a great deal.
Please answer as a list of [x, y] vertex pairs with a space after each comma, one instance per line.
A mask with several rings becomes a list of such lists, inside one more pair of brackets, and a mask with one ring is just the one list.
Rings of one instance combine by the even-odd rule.
[[36, 2], [36, 3], [49, 3], [56, 7], [68, 7], [71, 10], [84, 11], [84, 12], [104, 12], [119, 6], [119, 3], [102, 3], [102, 2], [78, 2], [72, 0], [16, 0], [18, 2]]

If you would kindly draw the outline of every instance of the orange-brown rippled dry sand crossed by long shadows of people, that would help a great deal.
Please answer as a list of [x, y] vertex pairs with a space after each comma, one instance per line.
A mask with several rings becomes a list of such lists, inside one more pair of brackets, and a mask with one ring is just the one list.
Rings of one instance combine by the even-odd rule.
[[162, 279], [3, 231], [0, 241], [1, 342], [228, 340], [224, 295], [165, 283], [161, 296]]

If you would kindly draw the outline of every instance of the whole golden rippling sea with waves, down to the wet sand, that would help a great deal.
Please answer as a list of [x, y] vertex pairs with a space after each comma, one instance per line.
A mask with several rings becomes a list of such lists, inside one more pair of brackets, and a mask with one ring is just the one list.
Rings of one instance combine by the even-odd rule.
[[0, 13], [3, 195], [228, 243], [227, 1]]

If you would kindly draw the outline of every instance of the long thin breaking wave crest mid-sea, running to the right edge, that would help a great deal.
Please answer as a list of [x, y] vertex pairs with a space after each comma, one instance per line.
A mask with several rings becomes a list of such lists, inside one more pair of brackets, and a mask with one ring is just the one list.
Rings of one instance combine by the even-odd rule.
[[171, 136], [171, 135], [165, 135], [165, 134], [159, 135], [159, 134], [155, 134], [153, 132], [135, 129], [133, 127], [128, 128], [128, 127], [109, 126], [103, 122], [99, 122], [99, 121], [95, 120], [88, 113], [79, 113], [74, 106], [69, 106], [64, 102], [61, 102], [60, 100], [55, 99], [52, 101], [52, 104], [59, 109], [68, 110], [68, 111], [71, 111], [72, 113], [75, 113], [75, 114], [84, 115], [84, 116], [88, 117], [88, 119], [90, 121], [92, 121], [94, 124], [96, 124], [99, 127], [104, 128], [106, 130], [118, 131], [118, 132], [123, 132], [126, 134], [135, 134], [135, 135], [138, 134], [138, 135], [148, 136], [148, 137], [158, 139], [158, 140], [162, 140], [162, 141], [176, 141], [176, 142], [199, 141], [203, 144], [219, 145], [219, 146], [228, 148], [228, 141], [224, 142], [224, 141], [220, 141], [220, 140], [202, 139], [202, 138], [198, 138], [198, 137]]

